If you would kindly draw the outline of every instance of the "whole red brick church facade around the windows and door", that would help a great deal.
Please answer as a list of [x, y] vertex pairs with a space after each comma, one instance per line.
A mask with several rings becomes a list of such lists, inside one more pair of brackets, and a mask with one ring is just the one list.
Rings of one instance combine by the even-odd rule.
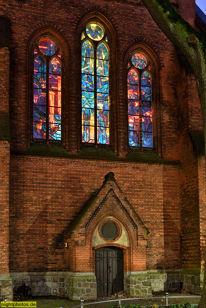
[[[197, 25], [195, 0], [175, 3], [179, 14]], [[88, 217], [80, 213], [100, 196], [104, 176], [113, 172], [116, 182], [103, 186], [115, 186], [116, 194], [105, 199], [102, 215], [113, 216], [128, 234], [128, 245], [112, 242], [124, 250], [125, 290], [149, 295], [182, 282], [200, 293], [205, 157], [200, 101], [189, 63], [140, 0], [7, 0], [1, 9], [2, 286], [10, 288], [12, 280], [14, 293], [25, 283], [32, 295], [66, 290], [73, 299], [97, 296], [93, 252], [111, 245], [92, 246], [101, 211], [88, 233], [90, 240], [68, 234], [80, 219], [85, 232]], [[104, 25], [111, 58], [110, 146], [98, 148], [81, 144], [80, 45], [89, 22]], [[31, 130], [32, 59], [39, 38], [58, 44], [63, 63], [62, 141], [48, 144], [33, 140]], [[135, 52], [149, 59], [152, 72], [153, 149], [143, 152], [128, 143], [126, 68]], [[117, 209], [117, 199], [131, 207], [134, 221], [142, 222], [137, 231]], [[149, 231], [146, 238], [142, 226]], [[81, 232], [77, 228], [74, 233], [78, 237]], [[10, 300], [9, 289], [4, 292]]]

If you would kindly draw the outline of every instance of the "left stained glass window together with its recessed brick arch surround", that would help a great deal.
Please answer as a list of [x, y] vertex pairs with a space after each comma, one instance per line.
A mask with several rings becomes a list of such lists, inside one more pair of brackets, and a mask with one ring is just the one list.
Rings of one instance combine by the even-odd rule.
[[[56, 46], [55, 51], [47, 55], [45, 53], [46, 49], [39, 48], [40, 42], [44, 42], [43, 44], [45, 42], [52, 42]], [[66, 130], [65, 120], [68, 118], [67, 102], [70, 80], [68, 73], [70, 54], [68, 43], [59, 31], [51, 28], [51, 26], [47, 26], [39, 28], [31, 35], [27, 43], [27, 51], [29, 76], [28, 146], [34, 143], [45, 145], [59, 144], [68, 148], [68, 138], [66, 138], [68, 131]], [[39, 62], [39, 65], [37, 62]], [[37, 67], [35, 67], [35, 64]], [[39, 87], [38, 85], [34, 86], [35, 75], [39, 76], [39, 81], [37, 81]], [[53, 80], [53, 86], [51, 79]], [[42, 95], [41, 93], [36, 93], [40, 91], [40, 87]], [[45, 102], [42, 104], [39, 101], [39, 95], [42, 99], [45, 97]], [[35, 104], [36, 106], [34, 106]], [[35, 108], [39, 108], [38, 114], [36, 114]]]

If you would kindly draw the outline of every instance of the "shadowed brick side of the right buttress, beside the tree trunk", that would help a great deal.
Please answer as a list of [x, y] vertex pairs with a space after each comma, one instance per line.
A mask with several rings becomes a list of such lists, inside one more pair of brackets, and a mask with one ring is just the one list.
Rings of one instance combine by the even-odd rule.
[[[200, 221], [197, 152], [189, 135], [190, 125], [198, 119], [191, 111], [196, 94], [191, 95], [192, 76], [186, 75], [179, 57], [176, 62], [178, 101], [179, 190], [181, 207], [181, 263], [183, 269], [200, 268]], [[187, 83], [189, 81], [189, 83]], [[196, 117], [196, 119], [195, 119]], [[192, 121], [194, 119], [194, 121]]]

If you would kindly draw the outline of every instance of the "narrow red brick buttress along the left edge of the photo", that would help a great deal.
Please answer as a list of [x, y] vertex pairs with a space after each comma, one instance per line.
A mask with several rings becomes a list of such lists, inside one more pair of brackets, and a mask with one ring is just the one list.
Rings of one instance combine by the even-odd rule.
[[9, 274], [9, 49], [0, 47], [0, 274]]

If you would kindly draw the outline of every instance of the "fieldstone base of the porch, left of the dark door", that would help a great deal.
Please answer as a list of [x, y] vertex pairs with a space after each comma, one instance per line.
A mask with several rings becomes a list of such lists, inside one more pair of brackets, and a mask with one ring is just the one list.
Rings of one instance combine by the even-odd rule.
[[94, 273], [68, 272], [65, 291], [71, 300], [96, 299], [97, 281]]

